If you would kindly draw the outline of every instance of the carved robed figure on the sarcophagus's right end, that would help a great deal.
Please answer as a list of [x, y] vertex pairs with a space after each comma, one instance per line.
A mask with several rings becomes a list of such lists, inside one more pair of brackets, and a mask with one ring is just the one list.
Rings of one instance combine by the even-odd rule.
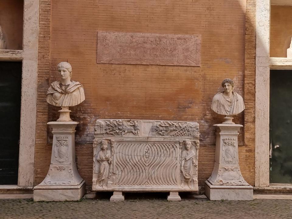
[[181, 171], [181, 187], [185, 186], [187, 182], [189, 188], [192, 188], [191, 182], [193, 181], [194, 165], [196, 163], [196, 154], [191, 149], [192, 143], [185, 142], [185, 149], [181, 154], [180, 171]]

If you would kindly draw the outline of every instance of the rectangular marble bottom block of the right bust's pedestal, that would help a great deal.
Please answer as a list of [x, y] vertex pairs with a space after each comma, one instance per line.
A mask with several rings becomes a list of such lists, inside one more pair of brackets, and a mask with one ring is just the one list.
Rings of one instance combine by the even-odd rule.
[[253, 188], [252, 186], [213, 186], [205, 181], [205, 195], [212, 201], [251, 201]]

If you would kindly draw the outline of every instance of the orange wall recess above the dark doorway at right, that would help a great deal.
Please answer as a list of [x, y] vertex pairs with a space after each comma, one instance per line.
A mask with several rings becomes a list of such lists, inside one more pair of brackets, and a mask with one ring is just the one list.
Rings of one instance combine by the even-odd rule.
[[287, 57], [292, 37], [292, 6], [271, 6], [270, 57]]

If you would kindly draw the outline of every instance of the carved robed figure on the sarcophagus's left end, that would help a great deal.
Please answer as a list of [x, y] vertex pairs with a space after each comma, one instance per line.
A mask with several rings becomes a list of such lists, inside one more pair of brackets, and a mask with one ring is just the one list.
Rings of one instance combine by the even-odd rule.
[[103, 188], [107, 186], [112, 169], [111, 151], [107, 149], [107, 144], [108, 142], [103, 139], [101, 142], [101, 150], [96, 156], [96, 185], [102, 186]]

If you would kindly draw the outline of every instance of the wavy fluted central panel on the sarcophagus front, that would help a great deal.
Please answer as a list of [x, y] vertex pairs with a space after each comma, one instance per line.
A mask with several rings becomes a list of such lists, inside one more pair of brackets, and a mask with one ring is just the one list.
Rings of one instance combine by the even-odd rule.
[[177, 185], [176, 144], [117, 143], [115, 150], [115, 185]]

